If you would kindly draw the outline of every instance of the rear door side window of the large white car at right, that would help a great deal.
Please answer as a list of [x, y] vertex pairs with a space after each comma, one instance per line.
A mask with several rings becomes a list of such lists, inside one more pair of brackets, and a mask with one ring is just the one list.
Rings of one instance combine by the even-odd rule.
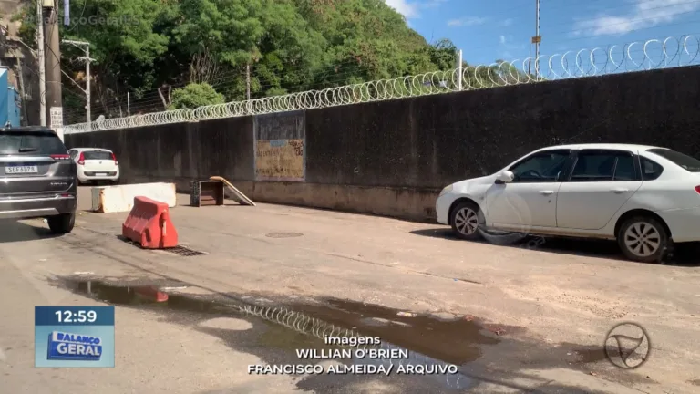
[[614, 150], [583, 150], [571, 171], [571, 181], [634, 181], [632, 154]]

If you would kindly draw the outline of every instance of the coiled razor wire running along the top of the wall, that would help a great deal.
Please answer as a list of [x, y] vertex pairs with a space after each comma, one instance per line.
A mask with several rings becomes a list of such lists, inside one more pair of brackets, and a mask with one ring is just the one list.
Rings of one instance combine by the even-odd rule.
[[66, 126], [66, 134], [170, 123], [262, 115], [303, 109], [407, 99], [456, 91], [700, 64], [700, 37], [680, 36], [623, 46], [565, 51], [489, 66], [469, 66], [416, 76], [382, 79], [263, 99], [232, 101], [196, 109], [175, 109]]

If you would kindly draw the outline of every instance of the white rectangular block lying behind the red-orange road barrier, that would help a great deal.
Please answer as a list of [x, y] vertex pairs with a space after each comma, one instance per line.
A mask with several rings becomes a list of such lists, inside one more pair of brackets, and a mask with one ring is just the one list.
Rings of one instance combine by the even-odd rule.
[[134, 197], [148, 197], [166, 202], [170, 208], [177, 205], [175, 183], [138, 183], [92, 188], [92, 211], [97, 213], [129, 212]]

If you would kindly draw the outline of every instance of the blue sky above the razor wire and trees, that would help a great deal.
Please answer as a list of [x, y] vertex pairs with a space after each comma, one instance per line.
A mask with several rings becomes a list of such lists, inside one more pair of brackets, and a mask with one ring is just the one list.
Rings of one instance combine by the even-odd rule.
[[[535, 0], [386, 3], [428, 41], [450, 38], [470, 64], [530, 56]], [[683, 35], [700, 38], [700, 0], [540, 0], [540, 55]], [[660, 54], [655, 45], [650, 51]]]

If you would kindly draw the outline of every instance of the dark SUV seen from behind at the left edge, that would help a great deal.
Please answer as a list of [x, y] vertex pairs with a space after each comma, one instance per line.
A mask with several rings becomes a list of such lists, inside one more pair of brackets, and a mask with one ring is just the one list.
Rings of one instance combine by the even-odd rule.
[[76, 222], [77, 171], [46, 128], [0, 129], [0, 219], [45, 217], [53, 233]]

